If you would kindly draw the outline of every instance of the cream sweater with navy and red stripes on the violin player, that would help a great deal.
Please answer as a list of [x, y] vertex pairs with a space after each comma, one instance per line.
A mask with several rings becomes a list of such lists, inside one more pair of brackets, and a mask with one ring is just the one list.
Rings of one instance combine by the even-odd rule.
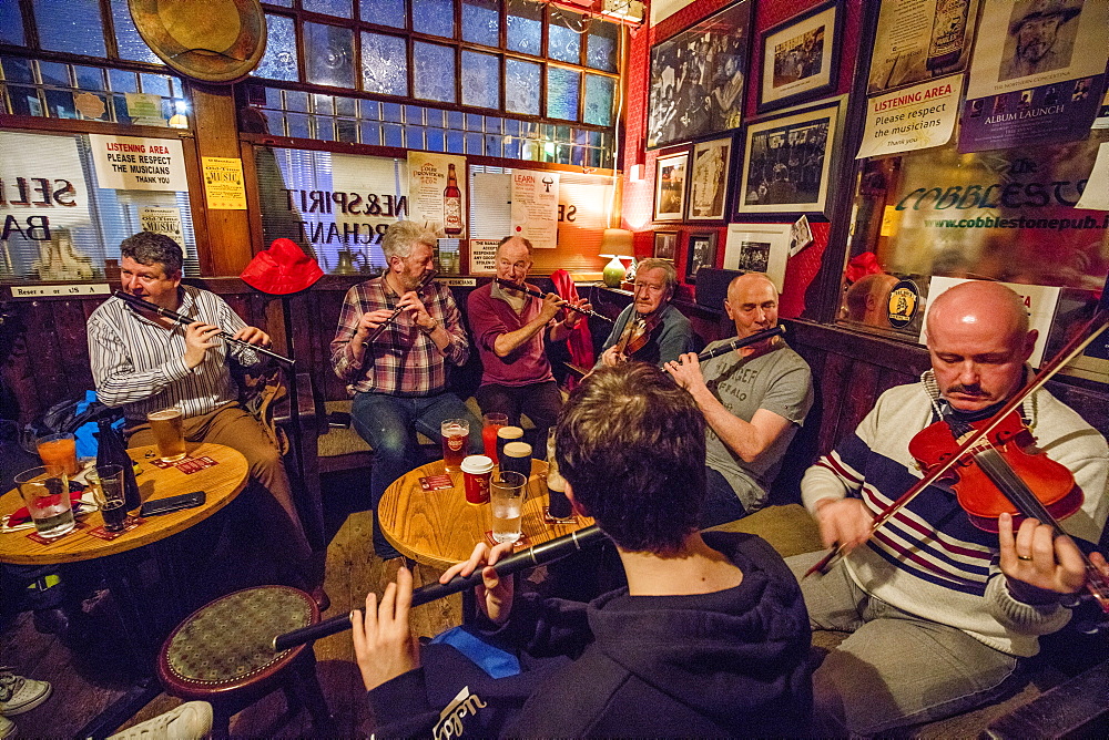
[[[877, 513], [923, 477], [908, 442], [938, 418], [930, 373], [923, 381], [883, 393], [855, 434], [805, 472], [801, 490], [811, 512], [821, 499], [852, 496]], [[1022, 415], [1038, 446], [1070, 469], [1086, 494], [1082, 508], [1062, 527], [1098, 542], [1109, 514], [1105, 439], [1045, 390], [1025, 402]], [[1057, 605], [1016, 600], [998, 567], [997, 535], [973, 526], [955, 495], [937, 485], [916, 496], [844, 565], [861, 588], [883, 602], [1010, 655], [1036, 655], [1038, 636], [1070, 618]]]

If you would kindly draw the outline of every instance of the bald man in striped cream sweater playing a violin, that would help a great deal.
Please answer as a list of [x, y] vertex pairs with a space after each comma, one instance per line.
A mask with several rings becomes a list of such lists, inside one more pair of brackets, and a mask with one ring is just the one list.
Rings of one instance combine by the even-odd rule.
[[[914, 435], [942, 419], [990, 417], [1025, 384], [1037, 332], [1015, 292], [973, 281], [934, 299], [927, 336], [932, 369], [883, 393], [802, 481], [824, 544], [849, 551], [802, 580], [813, 628], [852, 633], [813, 675], [818, 736], [882, 733], [1016, 690], [1021, 660], [1067, 624], [1064, 605], [1085, 585], [1070, 537], [1035, 520], [1015, 528], [1008, 514], [996, 534], [976, 528], [945, 485], [925, 489], [871, 536], [874, 516], [923, 475], [908, 452]], [[1098, 542], [1109, 513], [1105, 439], [1046, 390], [1017, 412], [1085, 492], [1062, 528]], [[801, 576], [822, 555], [787, 562]]]

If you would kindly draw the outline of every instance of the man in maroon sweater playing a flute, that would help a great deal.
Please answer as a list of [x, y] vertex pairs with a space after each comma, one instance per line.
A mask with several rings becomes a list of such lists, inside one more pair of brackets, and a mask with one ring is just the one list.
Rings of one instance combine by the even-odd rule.
[[[505, 237], [497, 247], [497, 277], [525, 286], [531, 271], [531, 243], [519, 236]], [[586, 300], [574, 304], [589, 309]], [[562, 397], [554, 382], [545, 339], [566, 341], [581, 320], [578, 311], [564, 311], [566, 301], [549, 292], [536, 298], [496, 280], [470, 294], [467, 302], [474, 341], [481, 357], [481, 386], [475, 397], [484, 413], [503, 413], [519, 424], [520, 413], [536, 425], [536, 444], [546, 444], [547, 431], [558, 419]]]

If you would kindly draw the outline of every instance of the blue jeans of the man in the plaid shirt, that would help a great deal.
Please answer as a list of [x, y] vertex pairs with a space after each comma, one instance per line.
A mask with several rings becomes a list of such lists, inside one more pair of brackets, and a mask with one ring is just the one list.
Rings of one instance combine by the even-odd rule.
[[375, 514], [374, 549], [381, 557], [399, 557], [376, 524], [377, 504], [395, 480], [418, 467], [423, 453], [416, 432], [439, 440], [439, 425], [447, 419], [470, 422], [470, 452], [481, 452], [481, 422], [454, 393], [426, 398], [399, 398], [384, 393], [356, 393], [350, 420], [362, 439], [374, 449], [369, 471], [369, 495]]

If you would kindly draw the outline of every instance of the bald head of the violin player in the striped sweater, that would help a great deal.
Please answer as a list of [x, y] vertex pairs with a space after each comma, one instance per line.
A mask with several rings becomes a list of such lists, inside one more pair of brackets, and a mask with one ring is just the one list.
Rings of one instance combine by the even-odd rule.
[[1007, 400], [1024, 382], [1037, 336], [1009, 288], [975, 280], [947, 290], [928, 311], [928, 353], [940, 393], [962, 411]]

